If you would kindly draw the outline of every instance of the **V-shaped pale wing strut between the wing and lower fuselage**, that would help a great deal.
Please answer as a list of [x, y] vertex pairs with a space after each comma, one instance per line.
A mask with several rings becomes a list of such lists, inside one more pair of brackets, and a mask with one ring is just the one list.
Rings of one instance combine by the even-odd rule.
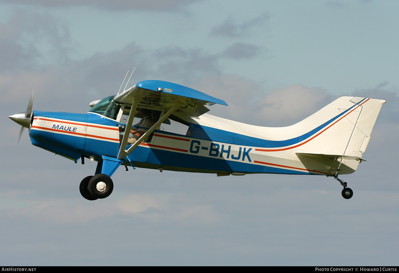
[[[150, 136], [152, 134], [152, 132], [154, 132], [155, 129], [159, 125], [161, 125], [161, 123], [163, 123], [170, 115], [172, 115], [172, 113], [174, 111], [176, 111], [180, 106], [182, 106], [182, 103], [176, 103], [175, 102], [173, 107], [171, 109], [169, 109], [169, 111], [166, 112], [165, 115], [163, 115], [154, 125], [152, 125], [152, 127], [150, 129], [148, 129], [148, 131], [146, 133], [144, 133], [144, 135], [142, 135], [136, 142], [134, 142], [134, 144], [132, 146], [130, 146], [130, 148], [128, 148], [128, 150], [126, 151], [125, 148], [126, 148], [126, 144], [127, 144], [130, 128], [131, 128], [131, 123], [133, 121], [133, 118], [130, 121], [130, 116], [134, 117], [134, 113], [136, 113], [136, 107], [137, 107], [138, 101], [139, 101], [139, 99], [136, 99], [136, 97], [134, 97], [132, 109], [130, 109], [130, 114], [129, 114], [129, 118], [128, 118], [128, 124], [126, 124], [126, 129], [125, 129], [125, 133], [123, 135], [122, 144], [120, 144], [120, 150], [119, 150], [119, 154], [118, 154], [118, 159], [122, 159], [125, 156], [127, 156], [128, 154], [130, 154], [141, 142], [144, 141], [144, 139], [146, 139], [148, 136]], [[133, 108], [134, 108], [134, 112], [132, 112]]]

